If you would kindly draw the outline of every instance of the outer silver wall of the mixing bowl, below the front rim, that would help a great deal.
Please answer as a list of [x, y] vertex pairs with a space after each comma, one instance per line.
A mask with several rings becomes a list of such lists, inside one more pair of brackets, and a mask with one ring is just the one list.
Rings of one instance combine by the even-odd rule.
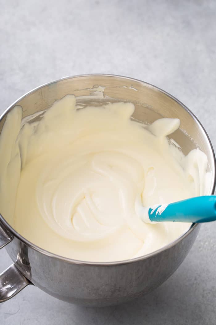
[[199, 228], [193, 227], [159, 253], [117, 265], [69, 263], [44, 255], [18, 238], [6, 250], [21, 273], [48, 294], [92, 307], [116, 305], [147, 294], [168, 279], [187, 256]]

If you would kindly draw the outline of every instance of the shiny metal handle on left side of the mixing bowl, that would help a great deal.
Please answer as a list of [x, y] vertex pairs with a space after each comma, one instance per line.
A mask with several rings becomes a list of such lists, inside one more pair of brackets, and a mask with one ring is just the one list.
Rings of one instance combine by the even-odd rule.
[[[0, 222], [0, 249], [12, 240], [13, 235]], [[0, 274], [0, 303], [14, 297], [29, 284], [32, 283], [12, 264]]]

